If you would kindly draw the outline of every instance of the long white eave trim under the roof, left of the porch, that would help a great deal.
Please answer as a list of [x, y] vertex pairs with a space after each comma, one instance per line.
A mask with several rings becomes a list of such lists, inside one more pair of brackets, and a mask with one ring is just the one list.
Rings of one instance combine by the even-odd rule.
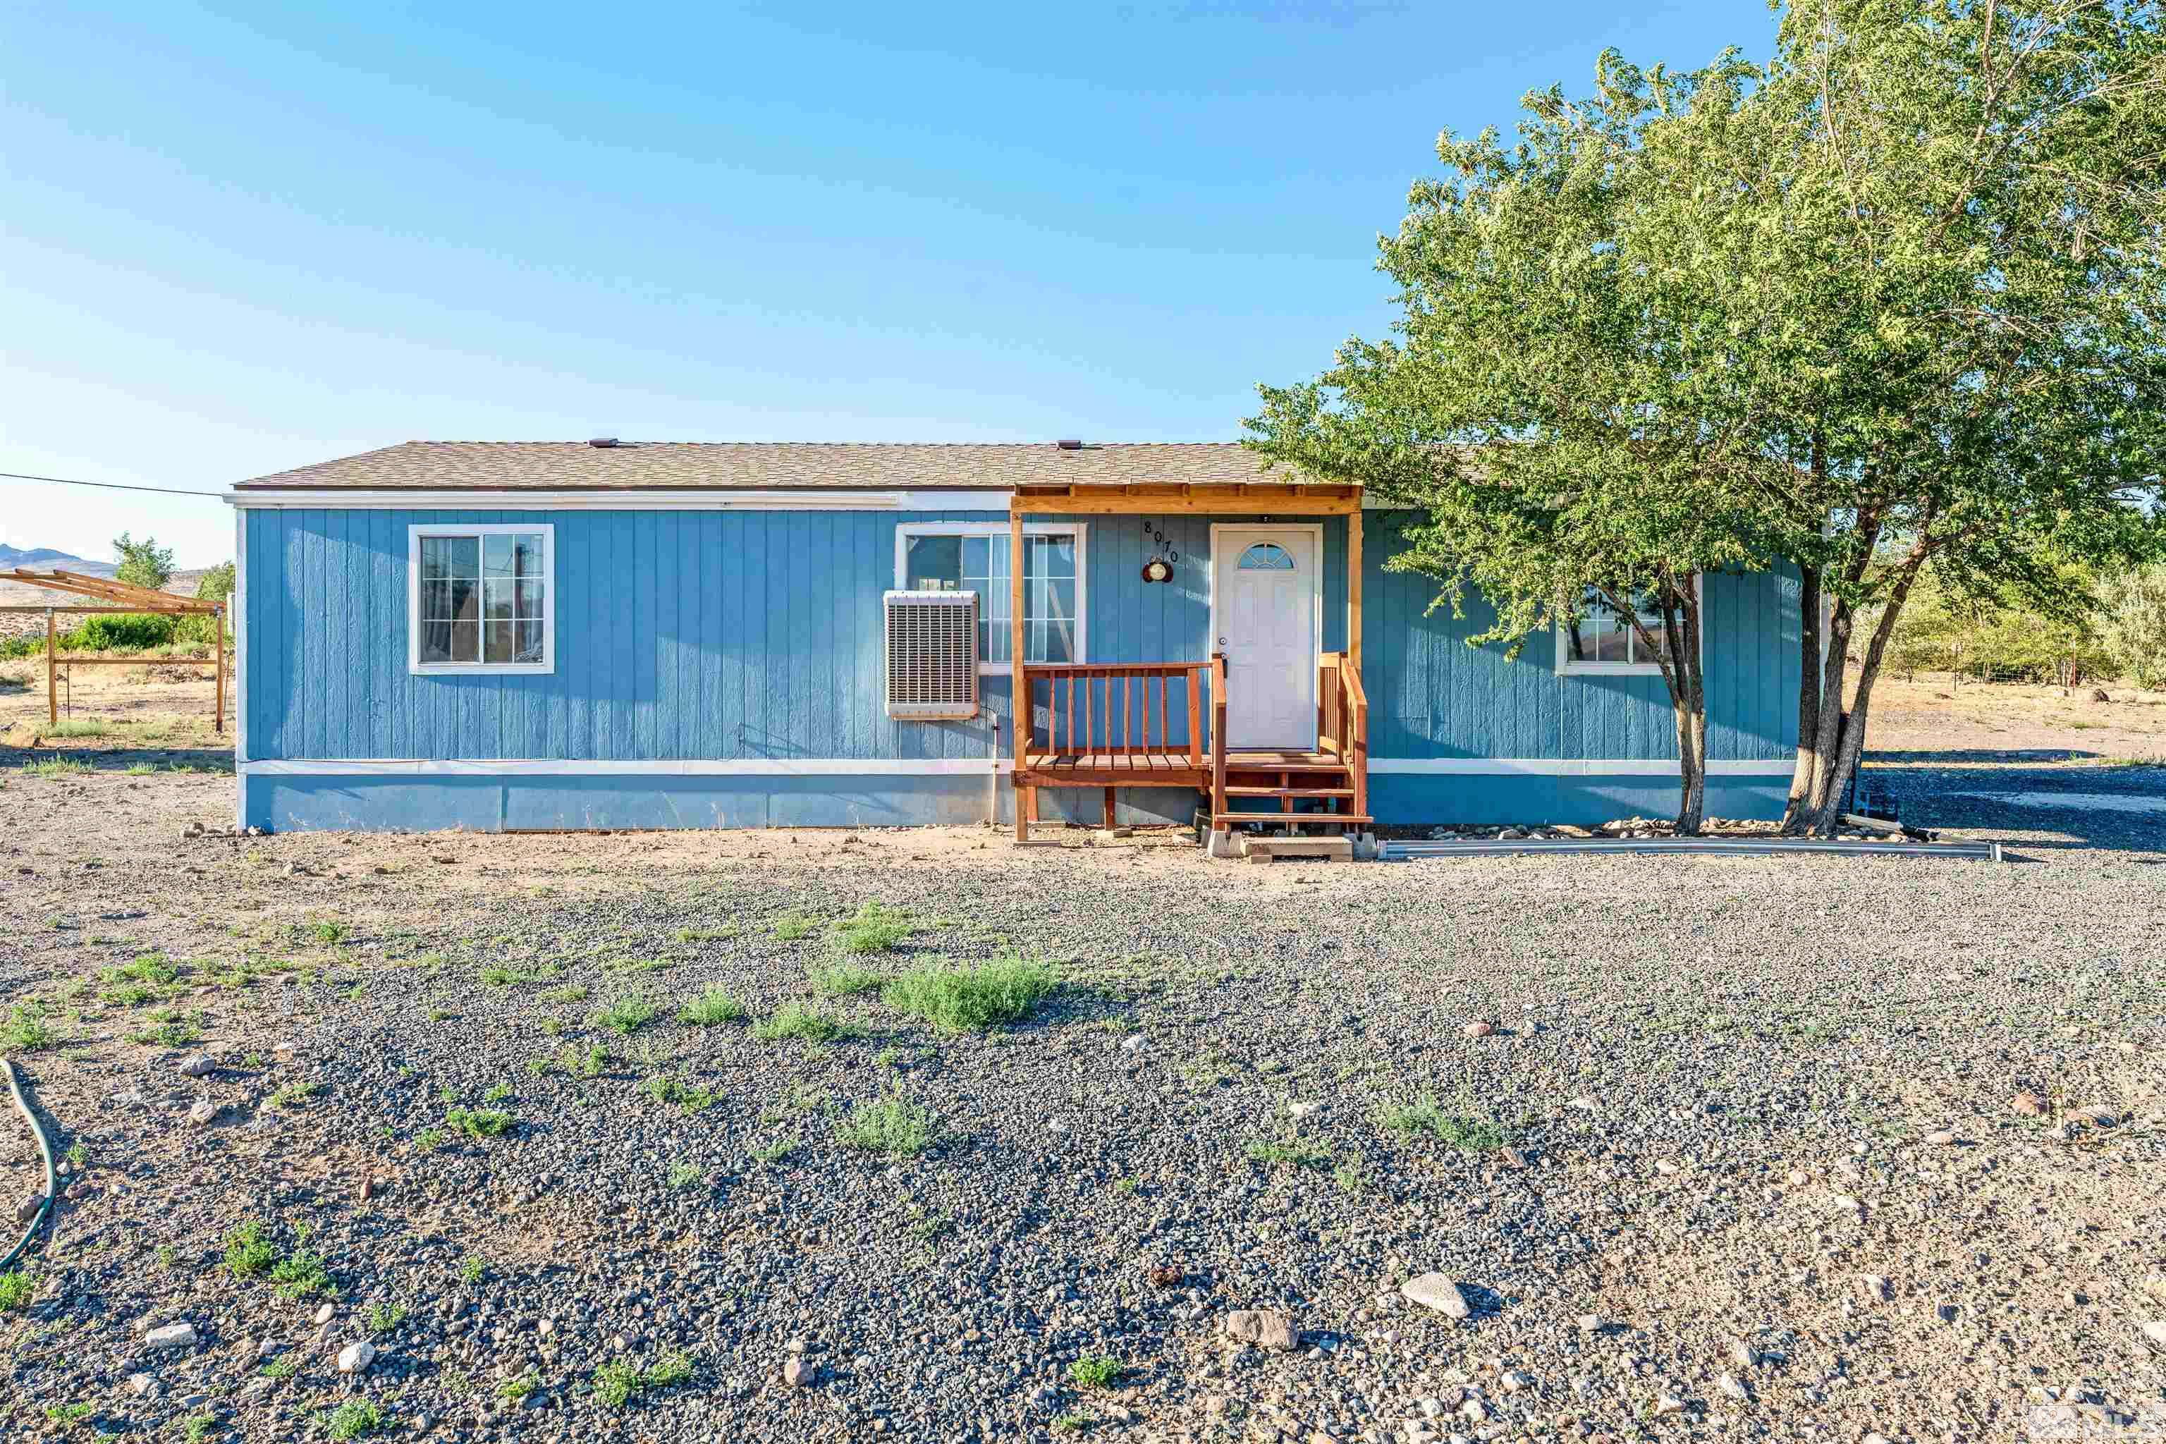
[[539, 491], [539, 489], [277, 489], [225, 494], [227, 507], [331, 511], [996, 511], [1007, 515], [1007, 491], [851, 491], [843, 487], [728, 489], [671, 487], [645, 491]]

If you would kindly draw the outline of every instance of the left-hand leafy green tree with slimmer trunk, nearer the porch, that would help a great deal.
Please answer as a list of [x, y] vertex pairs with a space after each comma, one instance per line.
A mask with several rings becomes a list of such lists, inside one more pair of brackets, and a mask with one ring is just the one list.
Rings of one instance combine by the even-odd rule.
[[1733, 115], [1750, 78], [1735, 56], [1666, 74], [1605, 54], [1592, 97], [1529, 95], [1512, 145], [1447, 132], [1451, 175], [1419, 182], [1380, 242], [1397, 338], [1347, 342], [1315, 383], [1258, 388], [1248, 422], [1267, 457], [1419, 509], [1386, 565], [1434, 578], [1460, 615], [1479, 591], [1495, 621], [1473, 645], [1577, 639], [1590, 606], [1629, 628], [1670, 693], [1681, 833], [1705, 812], [1698, 578], [1757, 559], [1733, 478], [1765, 461], [1711, 433], [1676, 364], [1698, 318], [1637, 247], [1679, 195], [1718, 184], [1705, 154], [1650, 139], [1700, 106]]

